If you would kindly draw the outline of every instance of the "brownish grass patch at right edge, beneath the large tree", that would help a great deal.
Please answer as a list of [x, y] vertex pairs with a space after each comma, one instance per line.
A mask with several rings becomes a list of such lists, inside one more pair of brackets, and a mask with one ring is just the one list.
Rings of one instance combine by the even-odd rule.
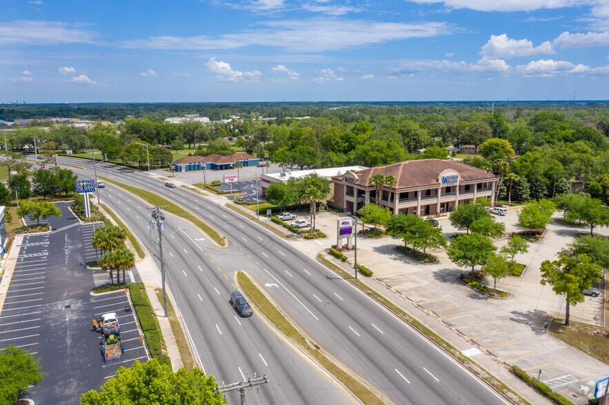
[[592, 357], [609, 364], [609, 331], [594, 326], [571, 321], [571, 326], [564, 326], [565, 320], [552, 318], [550, 334], [566, 344], [588, 353]]

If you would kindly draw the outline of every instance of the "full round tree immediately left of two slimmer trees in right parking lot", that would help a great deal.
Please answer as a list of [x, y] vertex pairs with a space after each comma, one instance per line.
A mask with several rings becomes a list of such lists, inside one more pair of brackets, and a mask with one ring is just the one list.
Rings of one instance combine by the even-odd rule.
[[495, 249], [488, 236], [469, 233], [453, 238], [448, 247], [448, 257], [457, 266], [470, 268], [473, 274], [474, 268], [485, 264], [488, 256]]

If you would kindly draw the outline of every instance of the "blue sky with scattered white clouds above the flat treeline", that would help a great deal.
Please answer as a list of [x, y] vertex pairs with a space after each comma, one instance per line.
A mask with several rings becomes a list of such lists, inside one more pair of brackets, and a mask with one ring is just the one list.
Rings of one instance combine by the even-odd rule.
[[606, 100], [609, 0], [0, 0], [0, 102]]

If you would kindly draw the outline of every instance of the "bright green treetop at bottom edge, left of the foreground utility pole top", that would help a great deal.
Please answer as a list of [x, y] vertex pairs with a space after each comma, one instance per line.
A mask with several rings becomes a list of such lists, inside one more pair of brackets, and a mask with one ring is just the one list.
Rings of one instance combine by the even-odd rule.
[[200, 368], [180, 368], [174, 373], [171, 366], [157, 359], [146, 363], [135, 360], [129, 368], [121, 366], [117, 377], [107, 380], [99, 392], [83, 394], [80, 403], [223, 405], [224, 398], [216, 393], [216, 386], [214, 377]]

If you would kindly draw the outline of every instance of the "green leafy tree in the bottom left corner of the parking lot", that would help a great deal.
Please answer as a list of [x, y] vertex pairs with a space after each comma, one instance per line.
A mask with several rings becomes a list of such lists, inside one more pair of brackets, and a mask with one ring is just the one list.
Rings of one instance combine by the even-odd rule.
[[15, 346], [6, 346], [0, 351], [0, 404], [14, 404], [28, 393], [30, 386], [38, 386], [44, 375], [37, 358]]

